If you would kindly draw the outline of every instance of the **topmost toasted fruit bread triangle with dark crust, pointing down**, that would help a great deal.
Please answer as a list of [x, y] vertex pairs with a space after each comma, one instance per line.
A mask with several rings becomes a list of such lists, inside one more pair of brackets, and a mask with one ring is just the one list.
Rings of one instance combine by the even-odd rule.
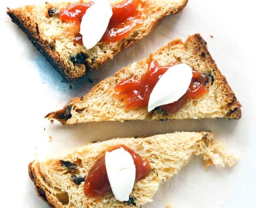
[[[90, 1], [81, 0], [77, 3]], [[122, 40], [114, 43], [98, 43], [90, 50], [82, 45], [74, 46], [75, 36], [67, 34], [74, 23], [64, 23], [56, 15], [61, 9], [67, 8], [71, 4], [69, 2], [46, 2], [44, 5], [23, 6], [8, 9], [7, 14], [27, 34], [29, 40], [44, 54], [52, 66], [58, 69], [66, 80], [73, 81], [84, 75], [85, 71], [99, 68], [103, 63], [113, 59], [123, 48], [133, 45], [148, 35], [164, 16], [179, 13], [187, 2], [188, 0], [140, 0], [137, 10], [148, 9], [145, 17], [143, 16], [142, 25]]]

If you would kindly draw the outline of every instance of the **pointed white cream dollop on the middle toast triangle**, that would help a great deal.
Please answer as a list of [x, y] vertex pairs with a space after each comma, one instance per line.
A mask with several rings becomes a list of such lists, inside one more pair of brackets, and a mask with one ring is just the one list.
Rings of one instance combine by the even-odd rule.
[[148, 101], [148, 112], [160, 105], [174, 103], [189, 88], [193, 74], [192, 68], [186, 64], [170, 67], [154, 86]]

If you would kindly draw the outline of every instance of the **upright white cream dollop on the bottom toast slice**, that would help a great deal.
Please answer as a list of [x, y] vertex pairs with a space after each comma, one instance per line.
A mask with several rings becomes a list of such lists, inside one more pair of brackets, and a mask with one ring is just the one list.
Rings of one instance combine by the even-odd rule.
[[108, 180], [118, 201], [129, 201], [136, 176], [136, 167], [131, 154], [119, 148], [105, 154]]

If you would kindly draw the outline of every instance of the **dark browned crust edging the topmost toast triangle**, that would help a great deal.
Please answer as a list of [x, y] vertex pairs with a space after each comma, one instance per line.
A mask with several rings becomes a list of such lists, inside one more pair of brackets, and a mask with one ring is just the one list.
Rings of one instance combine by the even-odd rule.
[[73, 66], [70, 66], [68, 63], [68, 60], [66, 60], [61, 54], [58, 53], [58, 51], [55, 50], [54, 47], [51, 46], [51, 43], [49, 41], [44, 40], [44, 38], [41, 36], [37, 23], [30, 24], [27, 20], [27, 17], [24, 17], [24, 12], [22, 9], [9, 9], [7, 11], [7, 14], [11, 17], [12, 21], [19, 26], [23, 32], [26, 33], [29, 40], [33, 43], [33, 45], [41, 51], [41, 53], [44, 55], [44, 57], [47, 58], [47, 60], [51, 63], [51, 65], [56, 68], [59, 73], [64, 77], [64, 79], [68, 82], [73, 82], [77, 78], [83, 76], [87, 70], [94, 70], [99, 68], [99, 66], [102, 66], [102, 64], [108, 62], [108, 60], [113, 59], [113, 56], [118, 54], [122, 49], [128, 48], [132, 46], [137, 41], [141, 40], [143, 37], [147, 36], [156, 26], [160, 23], [161, 19], [169, 14], [177, 14], [180, 11], [184, 9], [186, 4], [188, 3], [188, 0], [181, 0], [180, 5], [177, 8], [170, 8], [165, 13], [160, 14], [157, 19], [155, 19], [151, 25], [146, 28], [146, 30], [143, 32], [143, 34], [139, 35], [136, 34], [136, 32], [131, 32], [131, 37], [126, 37], [122, 39], [119, 42], [119, 48], [115, 48], [115, 50], [112, 51], [111, 55], [106, 55], [101, 60], [96, 61], [95, 63], [90, 63], [87, 61], [87, 63], [81, 66], [76, 66], [74, 68]]

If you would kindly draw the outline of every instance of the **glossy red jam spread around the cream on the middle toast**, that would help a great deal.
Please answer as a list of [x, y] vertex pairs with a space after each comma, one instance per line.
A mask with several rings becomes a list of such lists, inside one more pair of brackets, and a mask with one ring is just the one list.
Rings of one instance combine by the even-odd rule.
[[[140, 80], [134, 78], [127, 79], [116, 85], [116, 96], [125, 100], [126, 108], [140, 108], [148, 106], [150, 94], [160, 79], [160, 77], [172, 66], [177, 65], [177, 62], [171, 63], [169, 66], [159, 66], [156, 60], [151, 61], [148, 66], [148, 71]], [[193, 99], [205, 94], [208, 89], [205, 83], [208, 76], [201, 74], [198, 71], [192, 71], [193, 77], [186, 94], [183, 95], [175, 103], [162, 105], [164, 110], [175, 113], [186, 103], [187, 99]], [[179, 79], [182, 77], [177, 77]]]

